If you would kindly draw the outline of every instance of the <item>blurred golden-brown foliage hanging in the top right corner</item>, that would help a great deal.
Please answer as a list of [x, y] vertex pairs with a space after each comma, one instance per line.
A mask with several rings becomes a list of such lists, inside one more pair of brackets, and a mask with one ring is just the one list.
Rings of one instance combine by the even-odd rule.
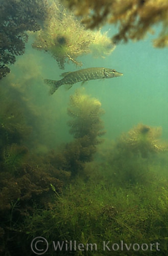
[[154, 32], [154, 25], [161, 24], [161, 32], [154, 40], [154, 46], [168, 46], [168, 3], [165, 0], [64, 0], [75, 14], [83, 17], [83, 23], [89, 28], [99, 27], [104, 23], [117, 25], [119, 32], [113, 37], [114, 42], [140, 40], [148, 32]]

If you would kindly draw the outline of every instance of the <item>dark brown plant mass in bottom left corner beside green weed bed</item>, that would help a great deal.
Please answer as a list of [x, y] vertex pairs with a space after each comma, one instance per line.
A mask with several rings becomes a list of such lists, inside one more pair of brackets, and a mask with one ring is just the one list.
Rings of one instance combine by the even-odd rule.
[[13, 250], [20, 255], [16, 243], [24, 234], [22, 224], [25, 218], [32, 216], [36, 207], [41, 210], [50, 208], [49, 202], [56, 198], [51, 184], [56, 193], [61, 191], [62, 181], [50, 173], [54, 172], [53, 167], [40, 164], [35, 165], [29, 159], [29, 163], [22, 162], [16, 171], [9, 169], [0, 174], [1, 255], [14, 255]]

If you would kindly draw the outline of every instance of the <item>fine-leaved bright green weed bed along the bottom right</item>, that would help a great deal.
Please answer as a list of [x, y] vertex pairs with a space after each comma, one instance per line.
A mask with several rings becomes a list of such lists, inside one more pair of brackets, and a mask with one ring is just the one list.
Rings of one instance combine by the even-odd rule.
[[[41, 212], [36, 210], [33, 216], [27, 216], [24, 233], [30, 241], [38, 234], [49, 241], [70, 241], [78, 243], [96, 243], [97, 251], [87, 250], [83, 255], [133, 255], [134, 251], [103, 251], [103, 241], [121, 245], [138, 243], [160, 243], [159, 254], [166, 255], [167, 249], [167, 188], [157, 180], [150, 187], [117, 188], [104, 178], [101, 180], [82, 181], [79, 177], [66, 186], [52, 208]], [[152, 202], [152, 203], [151, 203]], [[163, 207], [162, 207], [163, 205]], [[41, 225], [42, 224], [42, 225]], [[49, 239], [50, 238], [50, 239]], [[25, 242], [26, 242], [25, 241]], [[138, 241], [138, 242], [137, 242]], [[65, 243], [64, 243], [65, 245]], [[49, 246], [51, 248], [51, 246]], [[120, 247], [121, 249], [121, 247]], [[85, 253], [86, 252], [86, 253]], [[56, 251], [48, 251], [54, 255]], [[59, 255], [68, 255], [63, 246]], [[70, 251], [80, 255], [78, 249]], [[156, 254], [155, 254], [156, 253]], [[138, 250], [137, 255], [157, 255], [153, 250]]]

